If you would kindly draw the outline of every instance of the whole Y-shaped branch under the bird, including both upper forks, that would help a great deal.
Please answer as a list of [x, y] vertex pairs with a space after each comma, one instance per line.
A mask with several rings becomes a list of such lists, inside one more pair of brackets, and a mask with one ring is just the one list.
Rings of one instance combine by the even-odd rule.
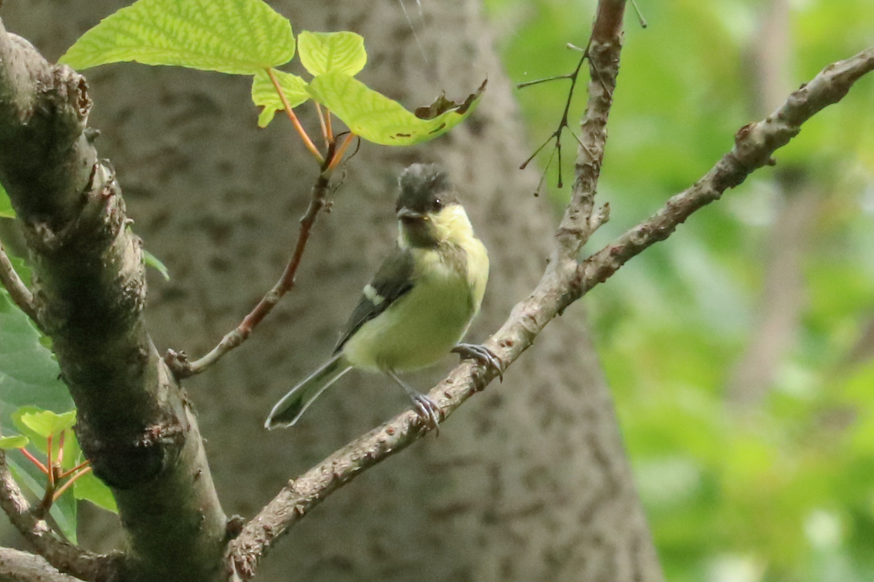
[[[605, 24], [601, 20], [605, 10], [610, 11], [607, 17], [616, 17], [616, 11], [621, 10], [622, 4], [620, 1], [602, 0], [599, 22]], [[616, 22], [619, 19], [613, 20], [613, 23]], [[606, 87], [614, 86], [620, 50], [619, 31], [612, 25], [605, 25], [601, 30], [611, 29], [616, 31], [616, 35], [609, 42], [599, 36], [597, 50], [593, 50], [593, 55], [599, 55], [593, 58], [593, 65], [604, 67], [600, 69], [601, 79], [597, 80], [597, 85], [601, 85], [603, 80], [603, 86]], [[593, 49], [594, 45], [595, 37]], [[801, 123], [823, 107], [842, 99], [850, 86], [871, 70], [874, 70], [874, 47], [856, 57], [829, 65], [807, 86], [794, 92], [787, 103], [769, 118], [741, 128], [732, 152], [726, 154], [702, 180], [671, 198], [655, 216], [580, 264], [576, 261], [575, 253], [593, 230], [607, 219], [606, 208], [592, 211], [593, 188], [586, 188], [597, 181], [604, 145], [601, 130], [607, 120], [609, 99], [605, 99], [605, 95], [608, 95], [606, 90], [601, 95], [590, 93], [583, 124], [583, 140], [587, 147], [580, 148], [581, 161], [578, 160], [575, 191], [556, 235], [556, 250], [537, 288], [513, 308], [510, 318], [489, 338], [486, 346], [496, 353], [504, 367], [510, 366], [531, 346], [533, 339], [552, 318], [594, 285], [606, 281], [628, 259], [656, 241], [667, 238], [692, 212], [717, 200], [726, 188], [738, 186], [754, 169], [772, 164], [773, 152], [798, 134]], [[594, 83], [590, 84], [590, 90]], [[595, 154], [594, 159], [586, 161], [590, 150]], [[465, 361], [456, 366], [429, 395], [440, 405], [445, 418], [495, 377], [494, 371]], [[306, 516], [309, 510], [362, 471], [426, 435], [427, 430], [417, 414], [406, 411], [350, 442], [313, 469], [290, 481], [231, 542], [228, 560], [232, 571], [242, 578], [251, 578], [260, 559], [275, 541]]]

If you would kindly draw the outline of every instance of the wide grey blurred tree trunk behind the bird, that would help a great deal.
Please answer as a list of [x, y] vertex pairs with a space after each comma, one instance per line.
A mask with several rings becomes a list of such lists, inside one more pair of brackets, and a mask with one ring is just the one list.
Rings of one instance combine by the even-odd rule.
[[[9, 2], [3, 18], [52, 59], [126, 3]], [[187, 380], [225, 510], [245, 516], [288, 478], [408, 406], [385, 379], [350, 373], [300, 426], [261, 428], [273, 402], [329, 354], [391, 245], [402, 168], [450, 168], [489, 248], [474, 341], [531, 290], [555, 223], [549, 201], [531, 195], [538, 176], [517, 170], [529, 150], [478, 2], [423, 0], [422, 12], [411, 3], [412, 29], [391, 0], [272, 4], [295, 32], [363, 34], [370, 63], [362, 79], [406, 106], [443, 89], [463, 97], [486, 77], [489, 88], [472, 120], [432, 144], [363, 143], [332, 212], [316, 224], [295, 291], [245, 346]], [[173, 277], [149, 276], [150, 330], [162, 348], [202, 355], [279, 277], [315, 163], [287, 120], [256, 128], [244, 78], [133, 64], [87, 73], [97, 145], [119, 172], [133, 228]], [[411, 381], [430, 386], [449, 363]], [[114, 528], [102, 531], [84, 534], [100, 547], [117, 543]], [[439, 439], [336, 493], [261, 572], [308, 582], [661, 580], [582, 310], [551, 325], [503, 385], [471, 401]]]

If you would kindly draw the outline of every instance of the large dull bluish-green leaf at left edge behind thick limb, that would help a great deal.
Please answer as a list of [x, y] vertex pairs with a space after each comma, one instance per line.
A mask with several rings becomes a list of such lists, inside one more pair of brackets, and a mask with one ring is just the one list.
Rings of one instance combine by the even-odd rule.
[[11, 414], [20, 407], [36, 407], [31, 412], [73, 407], [59, 380], [58, 362], [39, 337], [30, 318], [0, 288], [0, 426], [11, 426]]

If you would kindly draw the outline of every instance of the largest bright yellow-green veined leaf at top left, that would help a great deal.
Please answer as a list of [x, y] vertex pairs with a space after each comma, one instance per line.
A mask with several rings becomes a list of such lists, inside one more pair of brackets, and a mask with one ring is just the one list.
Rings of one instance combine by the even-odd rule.
[[261, 0], [138, 0], [83, 34], [60, 63], [119, 61], [252, 75], [295, 56], [291, 23]]

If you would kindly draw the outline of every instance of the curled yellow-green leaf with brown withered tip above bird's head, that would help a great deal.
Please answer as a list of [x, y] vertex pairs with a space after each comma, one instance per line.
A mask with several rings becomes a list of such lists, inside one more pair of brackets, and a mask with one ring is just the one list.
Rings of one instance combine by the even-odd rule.
[[340, 72], [329, 72], [310, 81], [307, 91], [328, 107], [365, 140], [384, 146], [411, 146], [445, 134], [470, 115], [480, 101], [482, 86], [461, 104], [440, 97], [420, 107], [416, 114], [397, 101], [373, 91], [364, 83]]

